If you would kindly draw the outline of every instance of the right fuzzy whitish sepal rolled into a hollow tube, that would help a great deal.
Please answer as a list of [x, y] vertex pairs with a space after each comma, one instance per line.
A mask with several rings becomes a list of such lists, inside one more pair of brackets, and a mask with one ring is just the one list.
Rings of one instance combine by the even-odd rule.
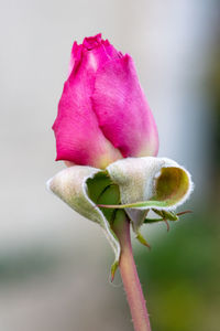
[[128, 158], [107, 170], [120, 188], [122, 204], [106, 207], [125, 209], [136, 233], [150, 209], [174, 211], [193, 191], [189, 172], [167, 158]]

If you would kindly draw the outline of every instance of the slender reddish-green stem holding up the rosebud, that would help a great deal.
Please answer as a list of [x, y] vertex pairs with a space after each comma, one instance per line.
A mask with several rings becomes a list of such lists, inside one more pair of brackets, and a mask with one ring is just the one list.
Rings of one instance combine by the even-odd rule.
[[121, 245], [119, 268], [127, 292], [134, 330], [151, 331], [146, 303], [132, 254], [130, 222], [127, 217], [124, 217], [124, 214], [122, 217], [118, 217], [113, 225], [113, 231], [117, 234]]

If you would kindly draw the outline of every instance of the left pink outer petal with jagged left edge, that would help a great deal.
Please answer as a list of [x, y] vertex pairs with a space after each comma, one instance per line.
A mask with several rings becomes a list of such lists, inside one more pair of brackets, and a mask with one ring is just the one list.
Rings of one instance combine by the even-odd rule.
[[[53, 126], [56, 136], [56, 160], [106, 168], [120, 159], [121, 154], [103, 136], [91, 108], [90, 96], [94, 90], [96, 64], [103, 58], [105, 50], [99, 53], [99, 57], [85, 49], [80, 54], [80, 63], [74, 65], [65, 83], [58, 116]], [[78, 57], [77, 61], [79, 62]]]

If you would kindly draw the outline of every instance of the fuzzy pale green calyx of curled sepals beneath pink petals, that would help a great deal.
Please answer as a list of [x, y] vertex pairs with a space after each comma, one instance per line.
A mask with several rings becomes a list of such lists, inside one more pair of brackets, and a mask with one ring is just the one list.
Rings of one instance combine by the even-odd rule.
[[[112, 229], [117, 217], [129, 217], [136, 238], [148, 246], [140, 227], [177, 221], [182, 213], [175, 210], [189, 197], [193, 186], [185, 168], [170, 159], [153, 157], [122, 159], [106, 170], [73, 166], [47, 182], [50, 191], [101, 226], [114, 252], [112, 278], [120, 258], [120, 244]], [[150, 210], [160, 218], [147, 218]]]

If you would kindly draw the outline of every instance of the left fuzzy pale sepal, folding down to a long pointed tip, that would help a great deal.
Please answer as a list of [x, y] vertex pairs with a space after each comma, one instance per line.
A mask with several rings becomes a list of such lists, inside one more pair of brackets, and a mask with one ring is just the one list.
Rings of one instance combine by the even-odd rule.
[[[92, 181], [94, 178], [98, 178], [97, 183]], [[108, 177], [99, 169], [84, 166], [74, 166], [58, 172], [47, 182], [47, 188], [64, 202], [66, 202], [73, 210], [81, 214], [82, 216], [98, 223], [108, 241], [110, 242], [114, 252], [114, 263], [111, 267], [111, 274], [114, 274], [119, 265], [120, 258], [120, 244], [117, 235], [110, 227], [110, 223], [107, 216], [103, 214], [96, 203], [89, 196], [89, 186], [94, 185], [92, 194], [96, 200], [102, 191], [111, 188], [111, 181]], [[97, 185], [97, 188], [95, 188]], [[112, 201], [111, 201], [112, 202]], [[118, 203], [113, 200], [113, 203]]]

